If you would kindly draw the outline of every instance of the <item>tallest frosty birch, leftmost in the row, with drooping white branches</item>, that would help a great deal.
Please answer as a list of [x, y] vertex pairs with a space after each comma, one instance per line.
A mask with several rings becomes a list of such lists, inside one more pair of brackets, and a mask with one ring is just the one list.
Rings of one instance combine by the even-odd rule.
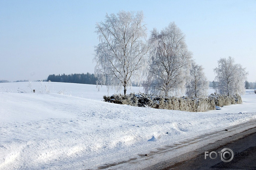
[[120, 11], [117, 15], [107, 15], [105, 22], [97, 23], [96, 33], [100, 43], [95, 47], [95, 77], [97, 84], [111, 86], [116, 90], [131, 81], [140, 83], [147, 66], [146, 54], [149, 50], [143, 12]]

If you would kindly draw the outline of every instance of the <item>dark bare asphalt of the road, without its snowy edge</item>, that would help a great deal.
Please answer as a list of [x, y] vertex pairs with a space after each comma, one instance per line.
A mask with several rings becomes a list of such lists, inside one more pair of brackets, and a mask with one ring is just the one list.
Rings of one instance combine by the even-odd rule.
[[[239, 136], [240, 135], [240, 136]], [[190, 159], [181, 161], [178, 163], [175, 163], [173, 165], [168, 166], [168, 164], [164, 166], [161, 166], [159, 169], [163, 170], [204, 170], [204, 169], [211, 169], [211, 170], [219, 170], [219, 169], [246, 169], [246, 170], [256, 170], [256, 128], [252, 128], [247, 130], [246, 132], [237, 134], [237, 136], [232, 137], [238, 137], [240, 139], [227, 142], [224, 145], [221, 145], [217, 148], [207, 148], [203, 147], [200, 148], [200, 154], [188, 154], [190, 155]], [[232, 138], [229, 137], [229, 138]], [[229, 141], [229, 138], [226, 138], [225, 141]], [[218, 151], [221, 151], [224, 148], [229, 148], [233, 151], [233, 159], [230, 162], [223, 162], [221, 160], [221, 157], [217, 156], [216, 159], [211, 159], [209, 156], [206, 156], [205, 159], [205, 151], [208, 151], [211, 153], [211, 151], [215, 151], [218, 153]], [[197, 153], [197, 151], [193, 151], [194, 153]], [[208, 153], [208, 154], [209, 154]], [[213, 153], [211, 155], [212, 157], [215, 157], [215, 154]], [[171, 163], [170, 163], [171, 164]]]

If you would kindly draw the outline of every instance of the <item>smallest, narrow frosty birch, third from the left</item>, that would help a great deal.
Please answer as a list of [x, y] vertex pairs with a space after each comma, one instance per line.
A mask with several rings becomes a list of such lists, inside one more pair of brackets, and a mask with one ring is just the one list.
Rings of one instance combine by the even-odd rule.
[[203, 72], [203, 67], [193, 62], [190, 68], [190, 82], [187, 84], [187, 96], [207, 96], [208, 88], [209, 82]]

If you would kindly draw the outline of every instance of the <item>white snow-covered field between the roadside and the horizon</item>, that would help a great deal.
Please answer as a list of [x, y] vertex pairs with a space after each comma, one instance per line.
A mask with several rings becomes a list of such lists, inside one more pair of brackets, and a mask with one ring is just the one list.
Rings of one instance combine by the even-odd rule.
[[98, 92], [95, 85], [32, 82], [35, 93], [27, 86], [0, 83], [0, 169], [98, 169], [256, 120], [253, 90], [242, 96], [243, 104], [190, 113], [102, 102], [105, 86]]

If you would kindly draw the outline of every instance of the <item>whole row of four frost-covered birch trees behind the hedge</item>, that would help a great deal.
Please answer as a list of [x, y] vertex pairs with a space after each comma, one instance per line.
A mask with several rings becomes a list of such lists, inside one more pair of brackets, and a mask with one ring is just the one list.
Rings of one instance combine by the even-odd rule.
[[[125, 95], [127, 87], [136, 82], [155, 95], [206, 96], [209, 83], [203, 67], [193, 61], [184, 33], [171, 22], [160, 31], [153, 29], [147, 39], [143, 19], [142, 11], [120, 11], [106, 14], [105, 21], [96, 24], [100, 40], [94, 58], [98, 84], [117, 90], [123, 87]], [[221, 58], [214, 72], [219, 93], [243, 92], [247, 73], [233, 58]]]

